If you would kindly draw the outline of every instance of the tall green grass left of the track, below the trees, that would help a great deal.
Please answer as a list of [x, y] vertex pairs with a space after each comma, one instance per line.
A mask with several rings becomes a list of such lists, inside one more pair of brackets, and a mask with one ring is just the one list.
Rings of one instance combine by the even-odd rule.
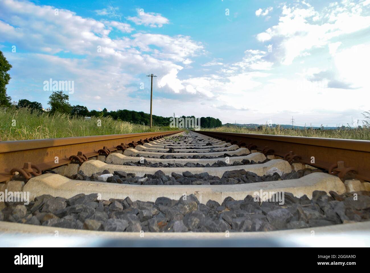
[[[98, 126], [98, 119], [101, 126]], [[15, 126], [13, 126], [15, 125]], [[32, 112], [28, 108], [0, 108], [0, 141], [87, 137], [92, 135], [130, 134], [141, 132], [172, 131], [178, 128], [132, 124], [111, 117], [68, 117], [56, 113]]]

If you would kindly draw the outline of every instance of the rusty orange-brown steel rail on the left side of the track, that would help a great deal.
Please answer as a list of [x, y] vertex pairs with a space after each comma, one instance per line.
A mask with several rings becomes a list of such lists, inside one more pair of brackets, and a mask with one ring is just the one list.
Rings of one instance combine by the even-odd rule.
[[103, 151], [108, 153], [122, 150], [128, 148], [129, 144], [137, 145], [137, 142], [179, 132], [183, 130], [3, 141], [0, 142], [0, 182], [10, 180], [13, 176], [11, 173], [15, 171], [22, 173], [27, 179], [30, 174], [39, 175], [41, 171], [69, 164], [71, 161], [83, 162], [103, 154]]

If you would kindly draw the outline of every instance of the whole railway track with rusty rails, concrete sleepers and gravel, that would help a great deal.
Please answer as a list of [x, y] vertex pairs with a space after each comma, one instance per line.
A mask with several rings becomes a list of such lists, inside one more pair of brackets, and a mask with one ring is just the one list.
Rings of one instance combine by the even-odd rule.
[[369, 230], [369, 143], [208, 131], [0, 142], [0, 192], [29, 194], [0, 202], [0, 231]]

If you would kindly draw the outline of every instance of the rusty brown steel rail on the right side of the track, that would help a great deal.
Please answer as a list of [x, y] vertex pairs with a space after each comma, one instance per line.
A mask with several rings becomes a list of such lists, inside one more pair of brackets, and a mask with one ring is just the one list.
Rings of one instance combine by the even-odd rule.
[[356, 178], [370, 181], [370, 141], [334, 138], [290, 137], [281, 135], [195, 131], [280, 156], [289, 162], [301, 162], [326, 169], [343, 178], [352, 172]]

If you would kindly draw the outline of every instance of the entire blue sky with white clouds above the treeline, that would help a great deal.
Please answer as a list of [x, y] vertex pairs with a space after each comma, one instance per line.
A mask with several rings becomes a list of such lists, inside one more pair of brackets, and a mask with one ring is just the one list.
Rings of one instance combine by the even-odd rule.
[[123, 24], [107, 0], [1, 0], [12, 99], [47, 107], [52, 78], [73, 105], [149, 112], [154, 73], [156, 115], [335, 126], [370, 108], [370, 0], [111, 3]]

